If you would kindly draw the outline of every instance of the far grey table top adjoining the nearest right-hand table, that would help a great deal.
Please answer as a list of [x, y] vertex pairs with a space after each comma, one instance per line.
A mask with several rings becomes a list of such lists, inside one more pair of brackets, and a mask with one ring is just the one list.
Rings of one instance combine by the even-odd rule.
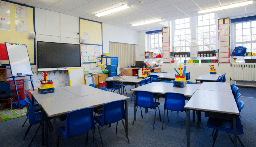
[[232, 92], [229, 83], [219, 83], [219, 82], [203, 82], [198, 89]]

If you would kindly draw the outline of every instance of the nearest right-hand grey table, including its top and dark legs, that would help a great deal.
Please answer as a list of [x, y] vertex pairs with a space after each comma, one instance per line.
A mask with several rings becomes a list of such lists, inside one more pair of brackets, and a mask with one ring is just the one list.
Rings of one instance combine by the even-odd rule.
[[240, 115], [232, 92], [196, 90], [188, 103], [187, 109], [186, 135], [187, 147], [190, 146], [190, 110], [203, 111], [206, 117], [222, 118], [233, 120], [234, 128], [234, 147], [237, 147], [236, 137], [236, 115]]

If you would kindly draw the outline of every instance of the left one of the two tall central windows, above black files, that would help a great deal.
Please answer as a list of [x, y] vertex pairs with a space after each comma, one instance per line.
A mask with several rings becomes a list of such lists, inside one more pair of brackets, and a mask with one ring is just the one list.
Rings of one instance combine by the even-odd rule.
[[175, 52], [190, 52], [190, 18], [175, 20]]

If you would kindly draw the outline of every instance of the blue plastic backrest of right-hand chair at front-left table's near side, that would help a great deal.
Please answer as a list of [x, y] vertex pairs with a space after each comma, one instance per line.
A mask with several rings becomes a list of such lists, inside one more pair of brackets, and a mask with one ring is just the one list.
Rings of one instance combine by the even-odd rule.
[[104, 126], [106, 124], [115, 123], [121, 119], [126, 119], [124, 104], [125, 100], [118, 100], [104, 104], [102, 110], [102, 122], [104, 122], [104, 124], [102, 125]]

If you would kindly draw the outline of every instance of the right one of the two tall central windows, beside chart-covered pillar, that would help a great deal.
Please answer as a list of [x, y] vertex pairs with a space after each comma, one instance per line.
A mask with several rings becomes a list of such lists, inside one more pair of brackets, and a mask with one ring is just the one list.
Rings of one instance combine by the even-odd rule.
[[216, 49], [215, 13], [197, 16], [198, 51]]

